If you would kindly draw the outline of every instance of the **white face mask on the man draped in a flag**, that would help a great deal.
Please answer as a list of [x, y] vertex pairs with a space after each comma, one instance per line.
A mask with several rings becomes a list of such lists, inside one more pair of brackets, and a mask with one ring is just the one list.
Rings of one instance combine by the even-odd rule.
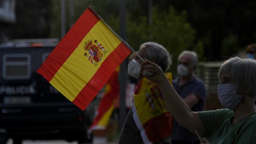
[[131, 60], [128, 64], [128, 74], [134, 78], [139, 78], [141, 66], [135, 59]]

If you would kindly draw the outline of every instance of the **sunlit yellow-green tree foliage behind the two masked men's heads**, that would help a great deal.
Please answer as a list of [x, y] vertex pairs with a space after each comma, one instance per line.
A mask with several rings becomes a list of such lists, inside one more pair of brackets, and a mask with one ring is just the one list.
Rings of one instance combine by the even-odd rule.
[[196, 34], [192, 26], [186, 21], [187, 14], [177, 14], [174, 7], [168, 12], [153, 9], [152, 25], [147, 24], [147, 17], [141, 16], [134, 21], [133, 16], [127, 18], [127, 42], [138, 50], [140, 44], [147, 41], [164, 45], [172, 55], [171, 72], [176, 73], [178, 55], [183, 50], [194, 50], [199, 59], [204, 60], [204, 46], [201, 40], [196, 41]]

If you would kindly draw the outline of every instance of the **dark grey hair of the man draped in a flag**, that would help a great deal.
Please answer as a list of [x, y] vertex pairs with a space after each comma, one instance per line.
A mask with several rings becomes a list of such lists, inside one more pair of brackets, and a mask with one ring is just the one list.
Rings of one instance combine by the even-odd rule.
[[155, 63], [159, 65], [164, 72], [170, 68], [172, 64], [171, 55], [163, 45], [156, 42], [145, 42], [140, 45], [140, 50], [144, 47], [147, 47], [146, 59], [155, 60]]

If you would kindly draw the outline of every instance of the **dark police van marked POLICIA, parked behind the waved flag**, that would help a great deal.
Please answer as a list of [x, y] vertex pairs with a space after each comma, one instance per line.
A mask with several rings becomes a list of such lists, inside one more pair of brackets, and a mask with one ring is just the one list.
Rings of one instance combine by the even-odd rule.
[[0, 45], [0, 141], [12, 138], [91, 142], [92, 116], [36, 73], [58, 39], [12, 40]]

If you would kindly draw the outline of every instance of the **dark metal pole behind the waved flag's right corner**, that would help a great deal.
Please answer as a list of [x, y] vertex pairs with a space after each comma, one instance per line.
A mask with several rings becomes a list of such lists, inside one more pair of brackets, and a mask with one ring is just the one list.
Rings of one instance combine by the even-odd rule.
[[[126, 0], [119, 0], [119, 26], [120, 37], [126, 40]], [[119, 130], [121, 131], [126, 119], [126, 76], [127, 60], [124, 60], [120, 67], [119, 84], [120, 84], [120, 104], [119, 104]]]

